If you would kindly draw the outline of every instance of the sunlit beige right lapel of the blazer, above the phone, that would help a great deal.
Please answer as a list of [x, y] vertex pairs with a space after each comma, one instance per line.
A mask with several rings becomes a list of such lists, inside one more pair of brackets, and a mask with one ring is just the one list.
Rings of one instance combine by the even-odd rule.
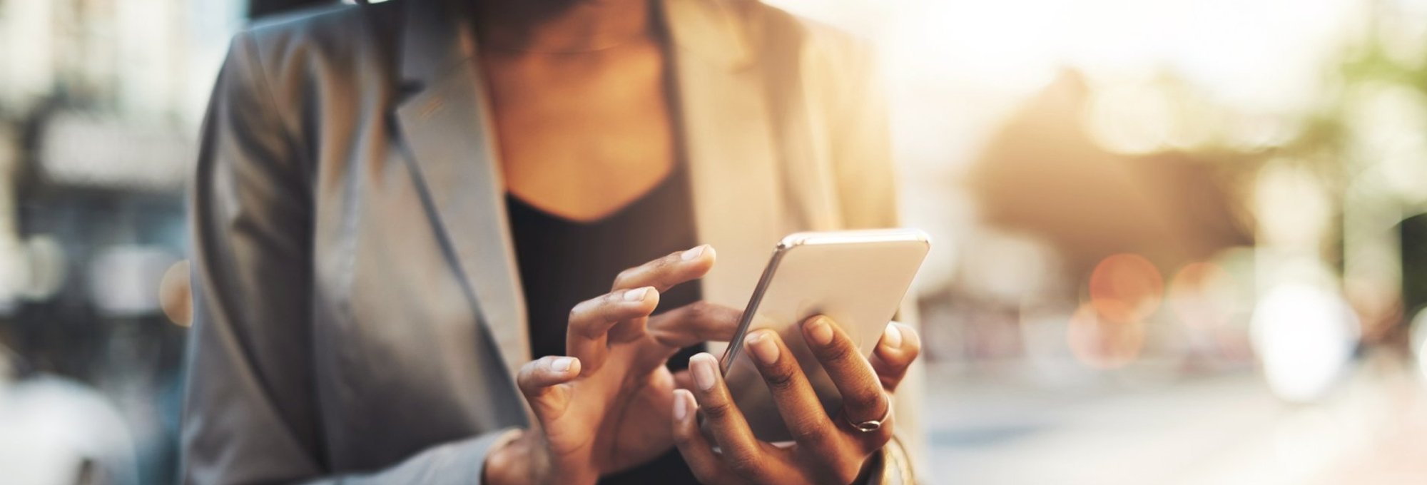
[[704, 298], [742, 308], [785, 235], [783, 177], [755, 50], [736, 3], [665, 0], [699, 240], [719, 251]]

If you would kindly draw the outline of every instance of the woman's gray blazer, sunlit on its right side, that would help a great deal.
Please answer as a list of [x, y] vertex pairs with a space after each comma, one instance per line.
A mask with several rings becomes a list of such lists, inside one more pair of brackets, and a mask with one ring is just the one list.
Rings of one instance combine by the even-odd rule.
[[[741, 308], [788, 233], [896, 224], [866, 48], [751, 0], [658, 11], [698, 235], [719, 251], [706, 300]], [[405, 0], [233, 40], [191, 191], [186, 482], [475, 484], [528, 424], [524, 298], [462, 19]], [[916, 387], [899, 391], [909, 442]]]

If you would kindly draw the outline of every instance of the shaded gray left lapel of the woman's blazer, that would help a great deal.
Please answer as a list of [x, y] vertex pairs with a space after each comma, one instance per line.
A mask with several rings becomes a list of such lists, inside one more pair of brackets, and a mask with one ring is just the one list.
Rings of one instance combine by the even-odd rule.
[[495, 137], [471, 30], [440, 1], [408, 3], [400, 134], [434, 225], [512, 377], [529, 359], [525, 305], [505, 213]]

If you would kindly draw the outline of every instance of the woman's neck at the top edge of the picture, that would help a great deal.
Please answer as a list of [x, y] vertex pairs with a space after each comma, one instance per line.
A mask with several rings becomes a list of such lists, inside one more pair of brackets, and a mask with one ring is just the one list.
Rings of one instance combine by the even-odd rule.
[[484, 47], [529, 53], [604, 50], [651, 36], [649, 0], [474, 0]]

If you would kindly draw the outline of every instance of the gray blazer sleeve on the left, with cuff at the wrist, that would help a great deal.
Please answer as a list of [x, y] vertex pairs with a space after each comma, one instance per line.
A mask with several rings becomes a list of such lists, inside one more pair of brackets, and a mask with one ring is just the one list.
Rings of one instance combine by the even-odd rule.
[[[186, 484], [478, 484], [502, 432], [332, 475], [314, 395], [311, 167], [238, 34], [208, 103], [190, 193], [194, 324]], [[381, 436], [371, 436], [381, 439]]]

